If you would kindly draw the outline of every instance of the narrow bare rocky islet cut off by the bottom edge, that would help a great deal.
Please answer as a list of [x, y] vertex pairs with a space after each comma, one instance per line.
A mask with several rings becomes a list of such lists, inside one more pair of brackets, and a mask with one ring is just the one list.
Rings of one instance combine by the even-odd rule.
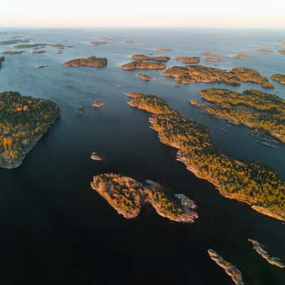
[[244, 285], [244, 281], [242, 279], [242, 272], [237, 269], [236, 266], [230, 264], [227, 260], [221, 257], [217, 252], [213, 249], [208, 249], [208, 254], [211, 259], [216, 262], [224, 271], [232, 278], [234, 284], [236, 285]]

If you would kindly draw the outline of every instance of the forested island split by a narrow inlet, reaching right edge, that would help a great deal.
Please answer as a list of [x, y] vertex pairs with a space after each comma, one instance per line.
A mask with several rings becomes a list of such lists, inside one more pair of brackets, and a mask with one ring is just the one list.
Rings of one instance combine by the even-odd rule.
[[[274, 138], [285, 142], [285, 100], [276, 95], [256, 89], [237, 93], [227, 89], [209, 88], [201, 90], [199, 95], [215, 105], [197, 104], [204, 112], [234, 124], [247, 125], [249, 128], [263, 130]], [[246, 106], [247, 110], [239, 110]]]

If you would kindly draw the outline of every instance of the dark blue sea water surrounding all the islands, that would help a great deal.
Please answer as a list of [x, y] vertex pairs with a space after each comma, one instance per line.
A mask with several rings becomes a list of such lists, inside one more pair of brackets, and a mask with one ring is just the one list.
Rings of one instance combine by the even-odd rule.
[[[147, 113], [130, 108], [125, 92], [152, 93], [188, 118], [209, 126], [217, 145], [239, 160], [259, 160], [274, 167], [285, 178], [285, 145], [266, 148], [242, 126], [203, 114], [187, 100], [199, 98], [209, 87], [195, 83], [172, 86], [161, 71], [147, 71], [156, 81], [135, 78], [135, 71], [121, 71], [132, 53], [165, 53], [197, 56], [199, 51], [217, 51], [224, 61], [203, 62], [207, 66], [257, 68], [261, 74], [284, 73], [285, 56], [256, 53], [257, 45], [272, 45], [285, 39], [284, 31], [261, 30], [26, 30], [9, 31], [35, 42], [74, 45], [63, 54], [47, 53], [6, 56], [0, 71], [0, 90], [50, 98], [61, 107], [61, 119], [28, 154], [16, 170], [0, 170], [0, 280], [1, 284], [231, 284], [231, 280], [209, 259], [212, 248], [235, 264], [246, 284], [285, 284], [284, 270], [266, 263], [252, 251], [247, 238], [266, 245], [274, 256], [285, 260], [284, 224], [254, 212], [245, 204], [221, 197], [208, 182], [197, 179], [175, 160], [175, 150], [162, 145], [148, 128]], [[110, 41], [89, 46], [101, 36], [123, 36], [135, 43]], [[7, 35], [0, 35], [2, 39]], [[0, 51], [10, 50], [1, 46]], [[249, 51], [254, 59], [232, 58]], [[70, 58], [107, 56], [106, 68], [65, 68]], [[163, 53], [162, 53], [163, 54]], [[176, 61], [172, 59], [167, 66]], [[47, 68], [38, 69], [38, 64]], [[211, 85], [242, 91], [257, 88]], [[271, 90], [270, 90], [271, 91]], [[272, 91], [273, 92], [273, 91]], [[274, 93], [285, 98], [284, 86]], [[93, 100], [103, 108], [94, 110]], [[79, 104], [86, 112], [74, 113]], [[219, 129], [228, 128], [228, 132]], [[90, 152], [103, 155], [90, 160]], [[162, 182], [173, 193], [185, 193], [198, 205], [195, 224], [178, 224], [144, 207], [137, 219], [119, 216], [90, 189], [93, 175], [116, 172], [143, 181]]]

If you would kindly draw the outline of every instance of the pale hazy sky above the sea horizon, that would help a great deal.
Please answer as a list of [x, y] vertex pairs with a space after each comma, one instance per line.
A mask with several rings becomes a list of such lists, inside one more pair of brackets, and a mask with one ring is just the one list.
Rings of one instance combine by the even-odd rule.
[[0, 26], [285, 28], [285, 0], [0, 1]]

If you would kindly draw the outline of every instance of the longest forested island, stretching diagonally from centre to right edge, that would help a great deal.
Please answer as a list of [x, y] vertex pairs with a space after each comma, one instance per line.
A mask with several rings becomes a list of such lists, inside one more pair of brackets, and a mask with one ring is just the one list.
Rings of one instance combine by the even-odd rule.
[[188, 170], [212, 182], [224, 197], [285, 220], [285, 182], [270, 167], [230, 159], [214, 145], [206, 127], [170, 109], [165, 100], [141, 93], [128, 96], [132, 98], [130, 106], [153, 114], [151, 128], [161, 142], [178, 149], [177, 160]]

